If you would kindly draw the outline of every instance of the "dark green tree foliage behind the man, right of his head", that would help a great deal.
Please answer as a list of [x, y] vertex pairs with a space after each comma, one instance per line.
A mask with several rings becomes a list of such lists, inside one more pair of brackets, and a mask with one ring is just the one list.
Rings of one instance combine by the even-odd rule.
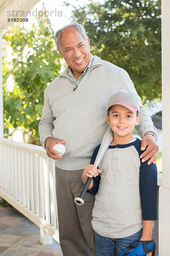
[[72, 17], [84, 25], [92, 54], [124, 68], [143, 102], [161, 99], [161, 0], [91, 0]]

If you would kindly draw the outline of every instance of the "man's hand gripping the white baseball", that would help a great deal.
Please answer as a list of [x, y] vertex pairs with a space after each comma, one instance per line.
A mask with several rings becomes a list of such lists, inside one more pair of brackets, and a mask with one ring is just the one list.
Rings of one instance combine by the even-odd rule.
[[48, 157], [51, 157], [53, 159], [62, 159], [62, 156], [57, 156], [56, 154], [59, 154], [58, 151], [54, 150], [53, 146], [56, 143], [62, 143], [65, 144], [64, 140], [58, 140], [58, 139], [53, 139], [51, 137], [48, 137], [45, 141], [45, 147], [46, 147], [46, 152]]

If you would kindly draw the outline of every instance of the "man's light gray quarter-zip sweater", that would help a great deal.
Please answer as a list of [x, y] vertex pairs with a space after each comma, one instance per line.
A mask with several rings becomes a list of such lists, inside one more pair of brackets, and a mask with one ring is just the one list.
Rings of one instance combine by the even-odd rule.
[[[94, 56], [91, 67], [78, 87], [65, 70], [45, 89], [44, 106], [39, 124], [40, 140], [45, 148], [48, 137], [65, 140], [66, 153], [55, 164], [64, 170], [84, 169], [94, 148], [101, 143], [107, 129], [105, 108], [109, 97], [118, 90], [136, 93], [125, 70]], [[141, 137], [156, 128], [146, 108], [140, 108], [141, 120], [136, 127]]]

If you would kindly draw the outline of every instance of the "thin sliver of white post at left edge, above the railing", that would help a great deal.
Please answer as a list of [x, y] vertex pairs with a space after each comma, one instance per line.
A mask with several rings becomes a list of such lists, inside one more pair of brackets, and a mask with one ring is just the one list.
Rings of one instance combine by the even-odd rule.
[[3, 67], [2, 67], [2, 33], [0, 32], [0, 138], [3, 137]]

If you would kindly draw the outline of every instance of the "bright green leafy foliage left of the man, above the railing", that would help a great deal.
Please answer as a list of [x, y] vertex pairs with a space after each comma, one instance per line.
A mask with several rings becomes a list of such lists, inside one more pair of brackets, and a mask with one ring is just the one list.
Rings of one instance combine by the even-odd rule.
[[[45, 20], [33, 24], [29, 31], [15, 26], [5, 38], [12, 47], [12, 59], [3, 62], [4, 136], [22, 127], [23, 138], [27, 134], [29, 143], [40, 145], [38, 124], [44, 90], [61, 68], [53, 31]], [[14, 79], [12, 91], [6, 86], [9, 75]]]

